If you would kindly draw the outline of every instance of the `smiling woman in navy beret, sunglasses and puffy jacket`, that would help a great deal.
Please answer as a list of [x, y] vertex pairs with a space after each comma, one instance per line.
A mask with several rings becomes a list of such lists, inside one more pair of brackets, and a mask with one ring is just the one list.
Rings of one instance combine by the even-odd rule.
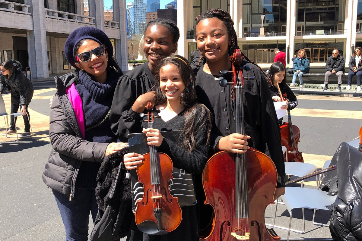
[[108, 36], [81, 27], [67, 38], [65, 55], [76, 70], [55, 77], [49, 138], [52, 150], [43, 181], [52, 189], [66, 229], [66, 240], [88, 240], [89, 213], [98, 212], [95, 188], [105, 156], [125, 147], [115, 143], [109, 113], [122, 71]]

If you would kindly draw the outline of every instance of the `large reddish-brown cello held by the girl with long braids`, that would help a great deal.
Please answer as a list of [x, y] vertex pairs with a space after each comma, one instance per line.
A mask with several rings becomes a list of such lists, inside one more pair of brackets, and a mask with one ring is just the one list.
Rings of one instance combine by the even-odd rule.
[[[232, 82], [220, 81], [222, 87], [231, 84], [235, 89], [236, 132], [244, 134], [244, 79], [240, 66], [243, 59], [240, 49], [230, 57]], [[228, 71], [220, 71], [224, 74]], [[253, 79], [250, 77], [248, 79]], [[222, 170], [222, 171], [220, 171]], [[277, 170], [273, 161], [262, 152], [250, 148], [243, 154], [220, 151], [206, 163], [202, 173], [205, 204], [214, 210], [210, 233], [202, 236], [205, 241], [279, 241], [275, 233], [265, 226], [266, 206], [274, 203]]]

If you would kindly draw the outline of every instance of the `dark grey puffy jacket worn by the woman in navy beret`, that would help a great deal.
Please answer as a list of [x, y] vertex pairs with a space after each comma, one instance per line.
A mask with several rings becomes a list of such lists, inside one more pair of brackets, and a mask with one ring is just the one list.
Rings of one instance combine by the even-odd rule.
[[78, 81], [76, 72], [55, 77], [56, 94], [50, 109], [49, 139], [52, 150], [45, 164], [43, 181], [71, 198], [82, 161], [102, 162], [109, 143], [83, 139], [66, 89]]

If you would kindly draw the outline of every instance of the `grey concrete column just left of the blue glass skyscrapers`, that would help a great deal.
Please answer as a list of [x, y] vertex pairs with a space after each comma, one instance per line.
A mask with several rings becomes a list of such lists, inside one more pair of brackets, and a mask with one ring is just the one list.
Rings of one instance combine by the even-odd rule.
[[126, 1], [113, 1], [113, 19], [119, 22], [119, 39], [114, 39], [115, 59], [122, 71], [128, 71]]

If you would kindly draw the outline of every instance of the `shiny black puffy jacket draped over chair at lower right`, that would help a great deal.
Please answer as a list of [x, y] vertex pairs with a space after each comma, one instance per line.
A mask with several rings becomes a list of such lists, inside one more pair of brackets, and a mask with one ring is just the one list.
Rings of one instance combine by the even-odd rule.
[[[343, 142], [337, 149], [337, 187], [329, 229], [333, 241], [362, 240], [362, 153]], [[334, 158], [334, 157], [333, 157]], [[334, 190], [336, 191], [336, 190]], [[333, 191], [333, 192], [334, 192]]]

